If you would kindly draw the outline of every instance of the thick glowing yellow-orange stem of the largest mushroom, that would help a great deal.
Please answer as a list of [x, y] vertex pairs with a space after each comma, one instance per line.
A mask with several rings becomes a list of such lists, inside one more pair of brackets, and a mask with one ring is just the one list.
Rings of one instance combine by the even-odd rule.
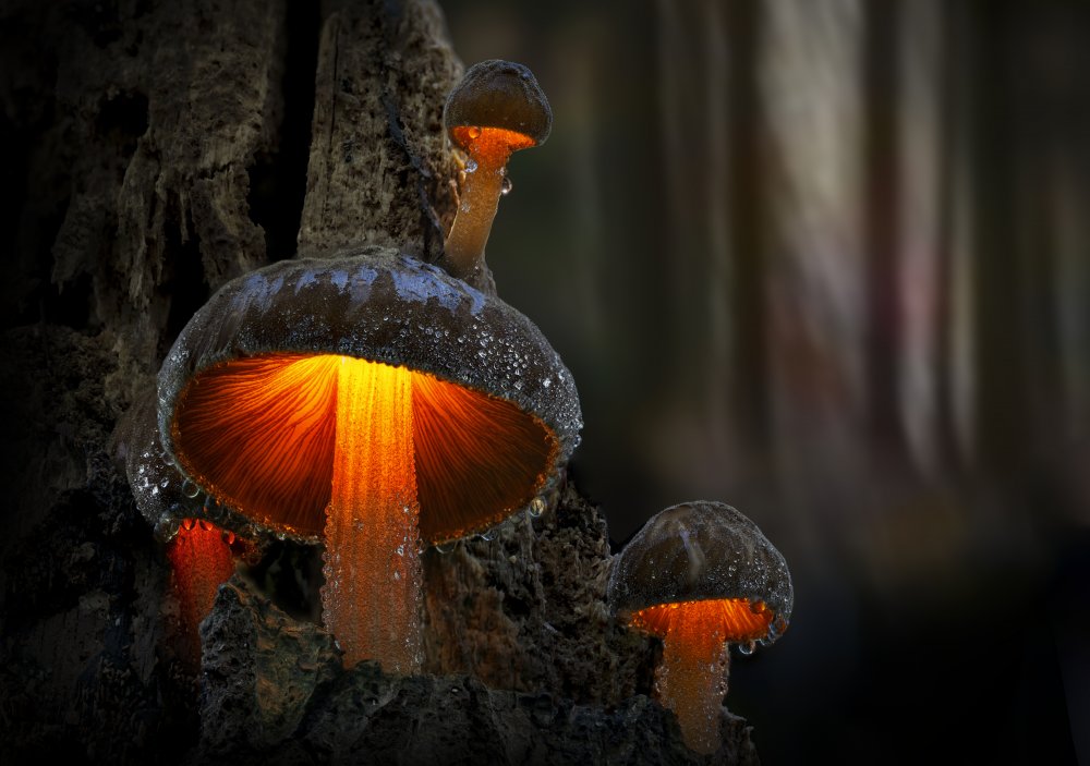
[[420, 671], [420, 504], [412, 374], [340, 357], [332, 490], [326, 509], [323, 621], [346, 667], [375, 659]]

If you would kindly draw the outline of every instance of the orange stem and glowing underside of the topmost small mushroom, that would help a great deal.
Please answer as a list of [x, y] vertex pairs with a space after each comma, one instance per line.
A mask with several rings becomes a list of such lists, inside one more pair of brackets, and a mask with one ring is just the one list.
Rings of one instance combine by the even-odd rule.
[[455, 141], [469, 157], [455, 221], [444, 245], [447, 271], [459, 279], [484, 267], [484, 248], [499, 208], [511, 153], [534, 145], [529, 136], [498, 127], [456, 127]]

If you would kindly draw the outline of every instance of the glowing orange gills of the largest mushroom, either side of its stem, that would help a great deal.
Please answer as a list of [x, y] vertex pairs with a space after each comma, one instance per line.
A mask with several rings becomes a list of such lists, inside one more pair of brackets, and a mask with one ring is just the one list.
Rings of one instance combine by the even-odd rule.
[[[202, 370], [175, 409], [179, 462], [218, 500], [256, 521], [320, 535], [332, 486], [340, 360], [268, 354]], [[559, 449], [541, 420], [480, 391], [410, 376], [421, 537], [459, 537], [526, 506]]]

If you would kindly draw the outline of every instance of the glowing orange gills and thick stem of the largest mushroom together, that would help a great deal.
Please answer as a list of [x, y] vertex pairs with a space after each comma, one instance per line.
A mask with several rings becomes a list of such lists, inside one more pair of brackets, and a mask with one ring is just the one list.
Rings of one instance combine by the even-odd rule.
[[[559, 443], [517, 405], [404, 367], [269, 354], [194, 376], [181, 465], [275, 528], [323, 534], [323, 621], [352, 666], [420, 670], [417, 547], [491, 526], [544, 485]], [[215, 476], [215, 478], [213, 478]]]

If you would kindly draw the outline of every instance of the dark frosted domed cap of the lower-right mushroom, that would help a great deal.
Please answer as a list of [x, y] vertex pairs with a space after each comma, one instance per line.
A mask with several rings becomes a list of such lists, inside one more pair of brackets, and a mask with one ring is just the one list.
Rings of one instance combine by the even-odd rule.
[[618, 612], [706, 599], [762, 601], [776, 627], [790, 620], [795, 591], [783, 555], [756, 524], [726, 503], [695, 500], [656, 513], [614, 557], [608, 599]]

